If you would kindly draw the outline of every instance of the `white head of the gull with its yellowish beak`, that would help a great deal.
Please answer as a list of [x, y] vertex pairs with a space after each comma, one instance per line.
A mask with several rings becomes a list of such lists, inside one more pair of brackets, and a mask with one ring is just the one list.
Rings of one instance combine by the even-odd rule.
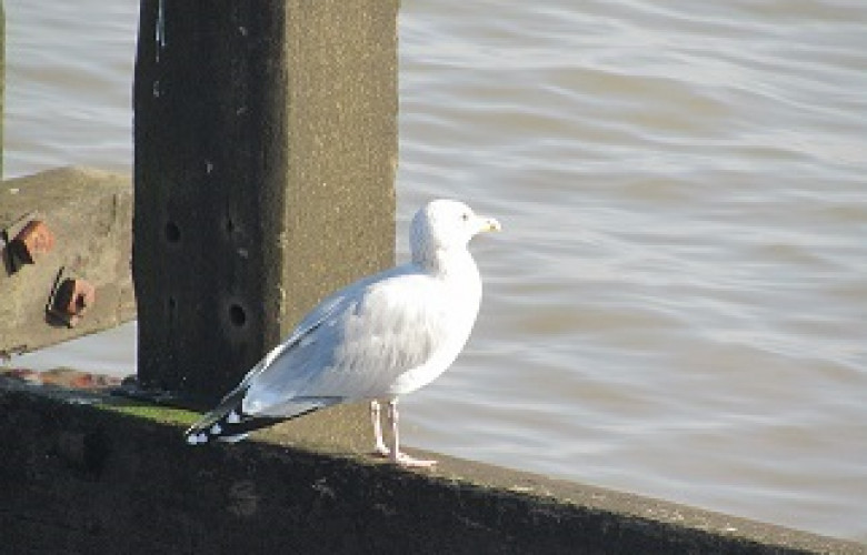
[[462, 202], [430, 201], [412, 218], [409, 232], [412, 260], [420, 262], [440, 250], [466, 249], [472, 238], [488, 231], [500, 231], [500, 223], [477, 215]]

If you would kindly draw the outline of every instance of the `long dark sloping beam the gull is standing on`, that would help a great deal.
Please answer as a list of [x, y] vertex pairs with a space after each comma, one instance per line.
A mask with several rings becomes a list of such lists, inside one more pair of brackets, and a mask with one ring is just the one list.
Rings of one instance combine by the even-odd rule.
[[366, 453], [365, 407], [236, 445], [195, 413], [0, 379], [6, 553], [865, 554], [864, 545], [436, 454]]

